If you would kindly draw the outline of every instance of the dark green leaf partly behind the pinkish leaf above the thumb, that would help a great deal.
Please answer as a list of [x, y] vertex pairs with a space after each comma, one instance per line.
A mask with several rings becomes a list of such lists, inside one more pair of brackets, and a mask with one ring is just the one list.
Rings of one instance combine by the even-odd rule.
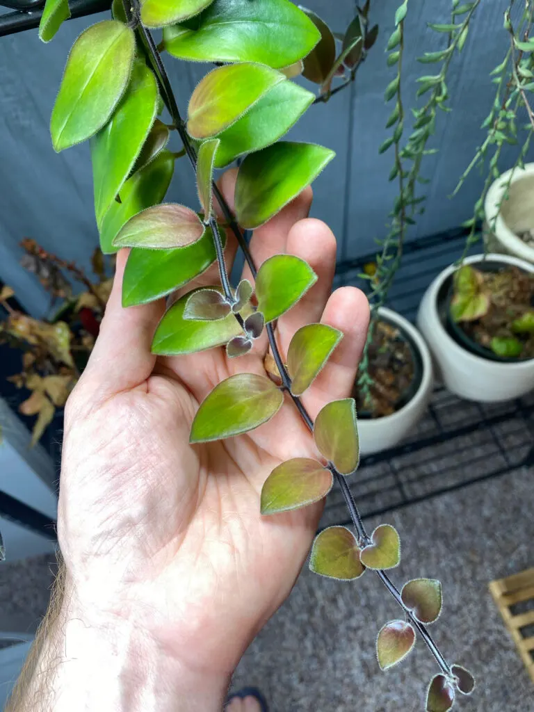
[[112, 203], [100, 226], [100, 249], [104, 254], [117, 251], [113, 239], [127, 220], [164, 199], [173, 172], [174, 156], [163, 151], [125, 182], [120, 203]]

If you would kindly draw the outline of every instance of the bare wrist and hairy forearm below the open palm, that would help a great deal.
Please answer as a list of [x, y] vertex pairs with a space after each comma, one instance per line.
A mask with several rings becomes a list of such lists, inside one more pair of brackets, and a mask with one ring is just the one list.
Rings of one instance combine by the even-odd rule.
[[228, 681], [185, 670], [135, 622], [81, 607], [63, 567], [6, 712], [221, 712]]

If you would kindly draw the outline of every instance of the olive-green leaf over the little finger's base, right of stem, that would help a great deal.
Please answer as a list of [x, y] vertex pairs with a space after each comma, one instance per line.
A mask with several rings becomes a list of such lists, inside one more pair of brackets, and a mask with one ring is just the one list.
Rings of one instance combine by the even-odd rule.
[[308, 324], [295, 333], [288, 348], [288, 371], [292, 379], [293, 395], [303, 394], [342, 337], [341, 331], [326, 324]]

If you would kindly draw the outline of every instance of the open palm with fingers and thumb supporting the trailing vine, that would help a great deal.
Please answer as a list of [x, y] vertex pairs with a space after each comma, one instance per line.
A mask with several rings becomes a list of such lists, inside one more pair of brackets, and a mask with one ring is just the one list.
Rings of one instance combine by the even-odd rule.
[[[231, 203], [233, 172], [222, 188]], [[303, 401], [312, 417], [350, 394], [367, 331], [365, 297], [330, 289], [335, 239], [307, 219], [308, 189], [251, 242], [257, 264], [275, 253], [310, 263], [318, 282], [278, 321], [281, 352], [305, 323], [345, 333]], [[226, 258], [236, 245], [229, 236]], [[316, 456], [294, 405], [246, 435], [189, 445], [199, 404], [238, 372], [264, 374], [266, 336], [234, 360], [224, 349], [150, 354], [164, 304], [120, 305], [125, 251], [90, 362], [66, 412], [58, 536], [78, 596], [135, 618], [189, 669], [226, 674], [287, 597], [310, 548], [320, 504], [262, 517], [260, 493], [286, 459]], [[245, 277], [250, 277], [244, 273]], [[217, 283], [216, 268], [189, 284]]]

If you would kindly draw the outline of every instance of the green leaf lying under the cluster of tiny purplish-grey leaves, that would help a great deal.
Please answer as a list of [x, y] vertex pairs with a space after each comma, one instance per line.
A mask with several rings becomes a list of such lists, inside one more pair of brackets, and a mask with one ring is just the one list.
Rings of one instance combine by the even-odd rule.
[[152, 353], [182, 356], [205, 351], [224, 346], [226, 342], [243, 333], [234, 314], [217, 321], [185, 319], [187, 301], [194, 293], [196, 292], [184, 294], [164, 314], [152, 341]]

